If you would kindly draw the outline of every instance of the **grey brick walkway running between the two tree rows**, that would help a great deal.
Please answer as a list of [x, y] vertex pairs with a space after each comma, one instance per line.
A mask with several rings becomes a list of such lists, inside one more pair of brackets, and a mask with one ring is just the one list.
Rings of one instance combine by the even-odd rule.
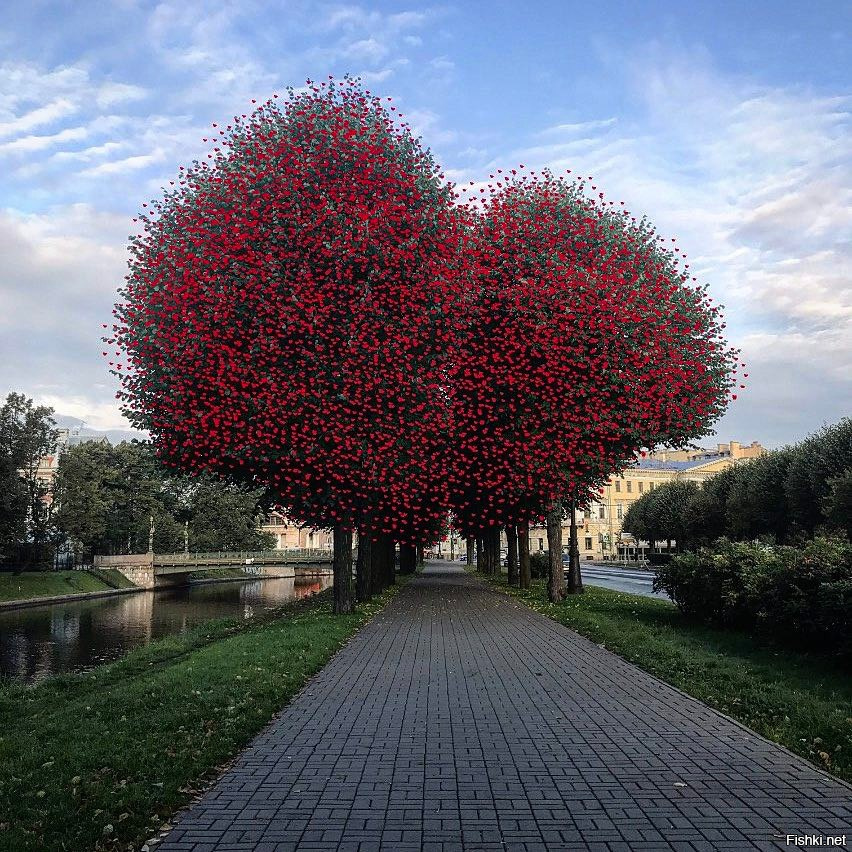
[[159, 852], [743, 850], [852, 792], [453, 566], [427, 569]]

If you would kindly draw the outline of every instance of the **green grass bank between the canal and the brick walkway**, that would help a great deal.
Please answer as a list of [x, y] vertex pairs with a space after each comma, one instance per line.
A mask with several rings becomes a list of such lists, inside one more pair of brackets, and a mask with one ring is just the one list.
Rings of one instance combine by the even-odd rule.
[[400, 585], [349, 616], [325, 592], [90, 674], [3, 684], [0, 850], [138, 848]]

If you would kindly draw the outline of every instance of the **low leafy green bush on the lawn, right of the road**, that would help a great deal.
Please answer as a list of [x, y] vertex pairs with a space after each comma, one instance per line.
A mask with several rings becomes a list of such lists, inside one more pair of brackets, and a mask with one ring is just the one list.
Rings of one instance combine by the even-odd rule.
[[852, 656], [852, 545], [817, 536], [801, 547], [719, 539], [657, 569], [654, 588], [700, 621]]

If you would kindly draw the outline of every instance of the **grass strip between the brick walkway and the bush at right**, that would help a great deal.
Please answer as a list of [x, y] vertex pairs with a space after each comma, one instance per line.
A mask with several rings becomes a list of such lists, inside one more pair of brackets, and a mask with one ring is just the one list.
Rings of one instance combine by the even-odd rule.
[[[481, 575], [480, 575], [481, 576]], [[839, 662], [694, 624], [666, 601], [586, 586], [560, 604], [483, 577], [759, 734], [852, 781], [852, 678]]]

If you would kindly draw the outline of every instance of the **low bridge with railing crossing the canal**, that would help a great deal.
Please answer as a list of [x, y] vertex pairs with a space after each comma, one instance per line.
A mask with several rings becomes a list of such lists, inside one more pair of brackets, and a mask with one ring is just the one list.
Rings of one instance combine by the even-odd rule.
[[240, 568], [258, 577], [295, 577], [330, 570], [330, 550], [232, 551], [229, 553], [132, 553], [96, 556], [95, 568], [114, 568], [143, 589], [188, 582], [195, 571]]

